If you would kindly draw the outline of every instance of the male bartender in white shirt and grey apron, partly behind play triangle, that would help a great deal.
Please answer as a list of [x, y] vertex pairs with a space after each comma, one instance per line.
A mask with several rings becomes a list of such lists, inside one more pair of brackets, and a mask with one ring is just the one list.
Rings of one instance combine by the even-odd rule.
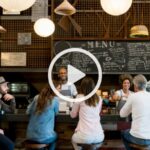
[[61, 84], [61, 91], [60, 93], [64, 96], [69, 97], [76, 97], [77, 96], [77, 89], [76, 86], [72, 84], [67, 83], [67, 68], [61, 67], [58, 71], [58, 77]]

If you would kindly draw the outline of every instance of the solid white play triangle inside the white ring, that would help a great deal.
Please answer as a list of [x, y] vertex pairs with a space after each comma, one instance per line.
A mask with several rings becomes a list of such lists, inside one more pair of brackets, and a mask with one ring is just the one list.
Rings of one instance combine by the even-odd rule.
[[80, 71], [79, 69], [73, 67], [72, 65], [68, 65], [68, 84], [73, 84], [83, 77], [85, 77], [85, 73]]

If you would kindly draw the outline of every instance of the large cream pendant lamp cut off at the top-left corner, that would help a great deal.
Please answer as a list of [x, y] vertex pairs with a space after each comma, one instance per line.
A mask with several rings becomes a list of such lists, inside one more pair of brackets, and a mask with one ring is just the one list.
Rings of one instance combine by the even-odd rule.
[[0, 6], [12, 12], [23, 11], [31, 7], [36, 0], [0, 0]]

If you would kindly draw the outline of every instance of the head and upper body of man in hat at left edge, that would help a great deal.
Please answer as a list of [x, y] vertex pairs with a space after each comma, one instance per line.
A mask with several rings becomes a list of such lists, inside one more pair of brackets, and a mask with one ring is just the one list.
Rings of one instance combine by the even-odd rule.
[[6, 113], [14, 113], [16, 108], [15, 97], [8, 93], [8, 82], [0, 76], [0, 110]]

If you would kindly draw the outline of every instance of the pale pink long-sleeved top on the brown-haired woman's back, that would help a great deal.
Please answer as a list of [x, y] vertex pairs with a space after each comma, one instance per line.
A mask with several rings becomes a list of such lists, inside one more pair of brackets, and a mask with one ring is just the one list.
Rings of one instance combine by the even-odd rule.
[[102, 126], [100, 124], [101, 105], [101, 99], [95, 107], [87, 105], [85, 101], [74, 104], [71, 116], [74, 118], [77, 116], [77, 113], [79, 113], [79, 122], [76, 131], [85, 134], [103, 134]]

